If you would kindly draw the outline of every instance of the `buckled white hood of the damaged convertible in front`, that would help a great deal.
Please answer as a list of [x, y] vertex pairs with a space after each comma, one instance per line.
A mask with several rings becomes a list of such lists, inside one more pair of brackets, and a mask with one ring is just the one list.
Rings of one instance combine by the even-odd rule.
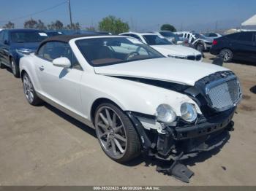
[[217, 71], [227, 71], [222, 66], [175, 58], [154, 58], [143, 61], [94, 67], [96, 74], [117, 77], [135, 77], [195, 85], [197, 80]]

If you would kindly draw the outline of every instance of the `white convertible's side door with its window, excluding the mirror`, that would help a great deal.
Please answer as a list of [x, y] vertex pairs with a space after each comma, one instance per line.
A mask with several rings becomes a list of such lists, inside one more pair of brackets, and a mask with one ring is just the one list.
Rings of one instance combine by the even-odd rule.
[[[68, 69], [53, 66], [53, 60], [61, 57], [69, 58], [72, 66]], [[37, 52], [35, 64], [42, 95], [69, 111], [82, 115], [80, 79], [83, 69], [69, 44], [47, 42]]]

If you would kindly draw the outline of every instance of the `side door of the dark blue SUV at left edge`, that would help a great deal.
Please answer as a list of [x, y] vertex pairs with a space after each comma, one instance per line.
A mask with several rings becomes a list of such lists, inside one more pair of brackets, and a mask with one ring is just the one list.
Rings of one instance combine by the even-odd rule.
[[10, 66], [9, 55], [10, 55], [10, 38], [8, 31], [1, 32], [1, 44], [0, 44], [0, 56], [1, 62]]

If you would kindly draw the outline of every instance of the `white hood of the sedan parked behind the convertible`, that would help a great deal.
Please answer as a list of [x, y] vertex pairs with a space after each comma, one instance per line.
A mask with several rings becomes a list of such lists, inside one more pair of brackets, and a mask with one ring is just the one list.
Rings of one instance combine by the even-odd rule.
[[154, 45], [151, 46], [158, 52], [162, 53], [162, 55], [200, 55], [201, 53], [193, 48], [184, 47], [182, 45]]

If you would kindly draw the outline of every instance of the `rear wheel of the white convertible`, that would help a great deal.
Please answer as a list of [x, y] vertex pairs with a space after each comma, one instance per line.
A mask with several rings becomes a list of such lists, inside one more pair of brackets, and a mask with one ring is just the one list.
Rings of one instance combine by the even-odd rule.
[[37, 96], [37, 93], [34, 90], [34, 86], [28, 74], [23, 74], [22, 82], [25, 98], [29, 102], [29, 104], [31, 104], [32, 106], [39, 106], [40, 104], [42, 104], [43, 101]]

